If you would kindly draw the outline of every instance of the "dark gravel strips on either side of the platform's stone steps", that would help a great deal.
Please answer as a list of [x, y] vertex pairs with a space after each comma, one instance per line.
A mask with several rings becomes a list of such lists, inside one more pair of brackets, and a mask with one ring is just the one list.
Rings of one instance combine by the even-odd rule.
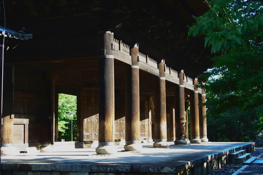
[[[255, 147], [255, 151], [251, 153], [251, 157], [256, 157], [263, 152], [263, 147]], [[239, 170], [242, 166], [241, 163], [229, 163], [223, 166], [221, 169], [217, 169], [210, 175], [232, 175], [234, 172]]]

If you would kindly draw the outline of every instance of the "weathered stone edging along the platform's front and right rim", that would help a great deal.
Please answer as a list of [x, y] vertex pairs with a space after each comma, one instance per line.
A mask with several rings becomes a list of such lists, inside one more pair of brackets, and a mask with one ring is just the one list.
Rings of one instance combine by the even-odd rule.
[[244, 143], [227, 149], [215, 151], [214, 154], [199, 157], [196, 160], [182, 162], [178, 165], [120, 165], [120, 164], [66, 164], [66, 163], [1, 163], [1, 170], [15, 171], [61, 171], [61, 172], [140, 172], [140, 173], [178, 173], [186, 169], [226, 156], [232, 152], [254, 146]]

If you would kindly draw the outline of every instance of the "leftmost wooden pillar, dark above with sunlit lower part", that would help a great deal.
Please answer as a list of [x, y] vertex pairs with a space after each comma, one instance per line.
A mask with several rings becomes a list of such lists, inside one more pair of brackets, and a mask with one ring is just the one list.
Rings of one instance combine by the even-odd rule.
[[[14, 67], [4, 65], [2, 147], [13, 146]], [[3, 148], [2, 148], [3, 149]], [[5, 154], [3, 151], [1, 154]]]

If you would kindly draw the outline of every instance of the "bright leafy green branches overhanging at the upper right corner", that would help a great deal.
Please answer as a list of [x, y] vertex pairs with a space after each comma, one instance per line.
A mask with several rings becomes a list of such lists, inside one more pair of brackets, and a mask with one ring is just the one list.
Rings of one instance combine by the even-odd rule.
[[212, 52], [240, 50], [262, 44], [263, 2], [260, 0], [210, 0], [211, 9], [189, 28], [188, 36], [205, 35]]

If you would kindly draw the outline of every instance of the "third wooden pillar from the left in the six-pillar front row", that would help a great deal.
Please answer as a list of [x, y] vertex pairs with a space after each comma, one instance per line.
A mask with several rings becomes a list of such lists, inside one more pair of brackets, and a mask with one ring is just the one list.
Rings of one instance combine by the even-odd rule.
[[159, 77], [154, 81], [154, 147], [168, 147], [166, 128], [166, 94], [164, 60], [158, 63]]

